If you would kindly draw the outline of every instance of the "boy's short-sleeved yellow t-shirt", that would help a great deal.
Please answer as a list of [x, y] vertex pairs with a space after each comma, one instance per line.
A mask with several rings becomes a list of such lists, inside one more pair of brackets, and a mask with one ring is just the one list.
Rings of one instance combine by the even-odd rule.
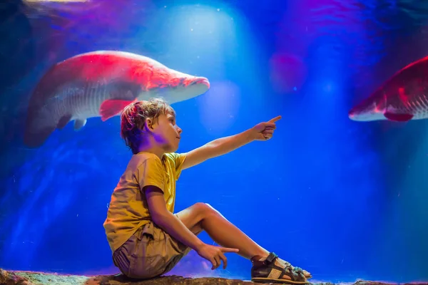
[[131, 157], [108, 207], [103, 226], [111, 251], [121, 247], [137, 229], [151, 220], [143, 187], [154, 185], [163, 190], [166, 208], [173, 213], [175, 182], [185, 160], [184, 154], [165, 153], [162, 160], [153, 153], [139, 152]]

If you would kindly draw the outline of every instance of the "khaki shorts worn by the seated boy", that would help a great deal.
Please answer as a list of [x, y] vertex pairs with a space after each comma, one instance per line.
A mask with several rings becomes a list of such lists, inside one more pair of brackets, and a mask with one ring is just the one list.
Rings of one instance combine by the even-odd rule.
[[167, 273], [190, 252], [163, 229], [149, 222], [113, 253], [113, 263], [130, 278], [148, 279]]

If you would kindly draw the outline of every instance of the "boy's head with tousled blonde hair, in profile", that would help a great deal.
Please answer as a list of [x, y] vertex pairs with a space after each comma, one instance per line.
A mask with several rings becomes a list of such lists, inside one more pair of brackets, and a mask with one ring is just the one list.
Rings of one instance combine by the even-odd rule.
[[164, 152], [175, 152], [181, 131], [175, 124], [174, 109], [162, 99], [131, 103], [121, 114], [121, 137], [133, 154], [148, 142]]

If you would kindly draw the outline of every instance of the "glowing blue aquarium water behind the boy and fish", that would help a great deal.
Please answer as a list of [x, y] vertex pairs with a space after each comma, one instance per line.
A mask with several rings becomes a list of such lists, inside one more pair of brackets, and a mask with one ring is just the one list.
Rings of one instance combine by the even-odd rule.
[[[52, 24], [59, 32], [46, 24], [57, 16], [34, 16], [36, 55], [6, 54], [35, 66], [24, 78], [21, 66], [5, 67], [17, 84], [0, 86], [0, 267], [118, 272], [102, 222], [131, 157], [119, 119], [93, 118], [79, 132], [68, 124], [37, 150], [21, 144], [21, 129], [31, 90], [51, 64], [124, 49], [210, 79], [207, 93], [173, 105], [180, 152], [282, 115], [272, 140], [185, 170], [177, 210], [208, 202], [311, 271], [312, 281], [426, 281], [427, 121], [347, 118], [357, 99], [426, 56], [419, 25], [427, 17], [410, 12], [425, 10], [395, 2], [108, 1], [83, 16], [69, 7], [56, 14], [68, 17]], [[228, 259], [227, 271], [211, 271], [191, 252], [171, 273], [249, 279], [249, 261]]]

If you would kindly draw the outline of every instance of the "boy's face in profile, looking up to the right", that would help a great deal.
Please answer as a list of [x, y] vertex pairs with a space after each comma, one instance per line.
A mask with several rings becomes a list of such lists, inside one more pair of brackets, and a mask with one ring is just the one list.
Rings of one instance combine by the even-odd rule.
[[152, 125], [153, 136], [165, 152], [178, 150], [182, 130], [175, 124], [175, 116], [172, 113], [159, 115], [158, 120]]

